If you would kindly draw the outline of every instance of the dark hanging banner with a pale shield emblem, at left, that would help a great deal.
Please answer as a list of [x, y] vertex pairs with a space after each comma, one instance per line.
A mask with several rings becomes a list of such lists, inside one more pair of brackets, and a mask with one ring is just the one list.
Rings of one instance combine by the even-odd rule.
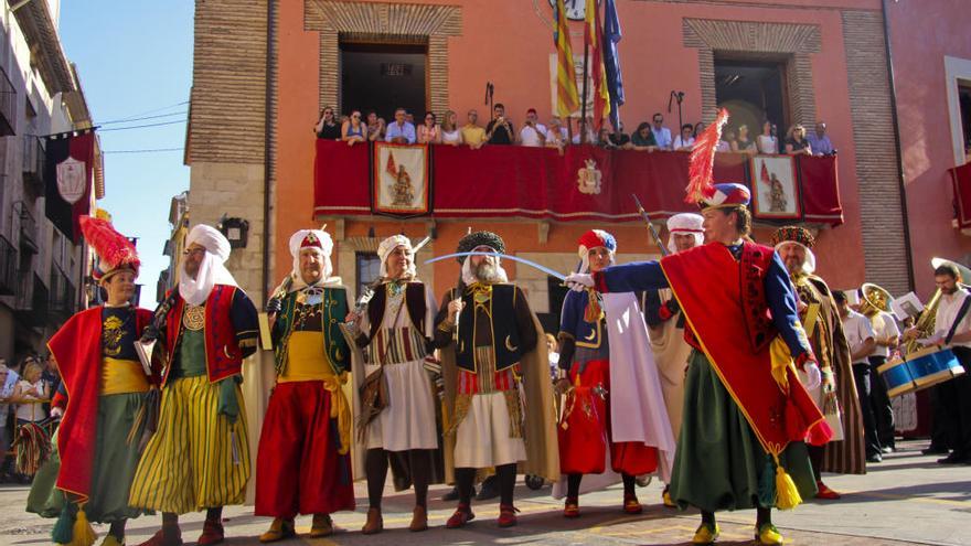
[[46, 140], [46, 215], [76, 244], [81, 238], [78, 218], [90, 212], [95, 132], [52, 135]]

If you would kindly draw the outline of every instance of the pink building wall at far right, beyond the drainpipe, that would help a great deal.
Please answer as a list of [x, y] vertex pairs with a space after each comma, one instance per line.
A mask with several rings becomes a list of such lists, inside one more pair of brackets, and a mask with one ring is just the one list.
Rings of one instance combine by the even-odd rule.
[[960, 259], [971, 253], [971, 237], [951, 224], [947, 170], [954, 167], [954, 154], [947, 86], [956, 84], [945, 78], [943, 58], [971, 60], [971, 10], [967, 0], [888, 2], [887, 8], [914, 275], [926, 298], [933, 292], [930, 258]]

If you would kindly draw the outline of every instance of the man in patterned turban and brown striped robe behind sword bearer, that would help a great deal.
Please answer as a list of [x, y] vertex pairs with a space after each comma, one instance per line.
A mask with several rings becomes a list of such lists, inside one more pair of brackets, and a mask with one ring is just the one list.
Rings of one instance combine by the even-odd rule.
[[[772, 234], [772, 246], [796, 287], [800, 320], [822, 373], [820, 387], [809, 389], [809, 394], [833, 430], [833, 437], [825, 446], [807, 446], [815, 475], [815, 496], [835, 500], [840, 494], [823, 483], [822, 472], [864, 474], [866, 453], [850, 345], [830, 287], [815, 275], [814, 245], [815, 238], [803, 227], [780, 227]], [[800, 372], [799, 379], [804, 385], [809, 378]]]

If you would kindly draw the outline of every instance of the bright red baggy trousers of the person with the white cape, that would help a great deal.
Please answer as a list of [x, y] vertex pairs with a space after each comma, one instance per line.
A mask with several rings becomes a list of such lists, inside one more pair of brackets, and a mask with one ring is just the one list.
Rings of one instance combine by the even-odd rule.
[[[576, 385], [579, 366], [573, 364], [570, 382]], [[605, 396], [597, 393], [602, 388]], [[610, 363], [589, 361], [579, 377], [579, 386], [567, 396], [557, 427], [559, 471], [564, 474], [600, 474], [610, 449], [610, 468], [628, 475], [658, 470], [658, 449], [641, 442], [610, 441]]]

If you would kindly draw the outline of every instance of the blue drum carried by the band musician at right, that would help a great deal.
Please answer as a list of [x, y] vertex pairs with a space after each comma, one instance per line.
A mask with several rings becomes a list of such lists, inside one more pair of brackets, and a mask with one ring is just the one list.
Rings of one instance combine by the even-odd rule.
[[963, 366], [950, 349], [927, 347], [879, 366], [877, 372], [887, 385], [892, 398], [916, 393], [964, 373]]

